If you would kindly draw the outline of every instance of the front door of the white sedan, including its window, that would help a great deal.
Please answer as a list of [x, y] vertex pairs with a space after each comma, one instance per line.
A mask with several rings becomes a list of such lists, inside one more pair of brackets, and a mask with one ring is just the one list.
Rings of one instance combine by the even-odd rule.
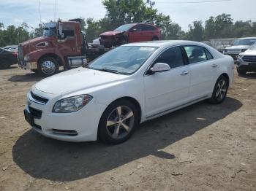
[[144, 77], [147, 118], [186, 103], [189, 93], [189, 66], [184, 64], [181, 47], [165, 50], [154, 63], [167, 63], [170, 71]]

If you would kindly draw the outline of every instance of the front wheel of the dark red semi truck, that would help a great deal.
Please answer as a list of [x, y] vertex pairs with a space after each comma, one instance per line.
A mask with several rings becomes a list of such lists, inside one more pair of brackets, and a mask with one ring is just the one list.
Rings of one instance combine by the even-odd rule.
[[45, 57], [39, 61], [38, 73], [43, 77], [50, 77], [59, 71], [59, 63], [54, 58]]

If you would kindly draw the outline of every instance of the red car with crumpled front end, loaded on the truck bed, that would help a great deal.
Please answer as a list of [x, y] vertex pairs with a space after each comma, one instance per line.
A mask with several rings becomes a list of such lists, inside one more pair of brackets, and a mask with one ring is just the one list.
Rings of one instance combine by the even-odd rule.
[[104, 47], [116, 47], [130, 42], [144, 42], [161, 39], [161, 30], [148, 23], [130, 23], [119, 26], [113, 31], [99, 35]]

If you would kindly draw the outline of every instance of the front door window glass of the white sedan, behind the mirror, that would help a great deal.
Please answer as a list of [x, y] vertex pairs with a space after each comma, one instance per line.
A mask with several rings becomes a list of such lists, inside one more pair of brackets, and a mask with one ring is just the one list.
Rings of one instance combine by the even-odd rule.
[[181, 47], [172, 47], [165, 50], [154, 63], [167, 63], [171, 69], [184, 66]]

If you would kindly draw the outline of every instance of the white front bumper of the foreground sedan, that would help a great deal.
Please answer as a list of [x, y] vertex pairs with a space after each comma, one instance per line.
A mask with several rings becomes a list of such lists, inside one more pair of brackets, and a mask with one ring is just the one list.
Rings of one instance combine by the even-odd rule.
[[[39, 95], [38, 92], [33, 92]], [[40, 94], [42, 95], [42, 94]], [[40, 117], [34, 117], [32, 128], [43, 136], [61, 141], [95, 141], [100, 117], [105, 110], [105, 105], [96, 104], [92, 99], [89, 104], [78, 112], [53, 113], [55, 101], [49, 99], [45, 105], [29, 99], [26, 111], [33, 113], [33, 109], [42, 112]], [[47, 96], [47, 95], [46, 95]], [[45, 97], [45, 95], [44, 95]], [[53, 99], [54, 100], [54, 99]]]

